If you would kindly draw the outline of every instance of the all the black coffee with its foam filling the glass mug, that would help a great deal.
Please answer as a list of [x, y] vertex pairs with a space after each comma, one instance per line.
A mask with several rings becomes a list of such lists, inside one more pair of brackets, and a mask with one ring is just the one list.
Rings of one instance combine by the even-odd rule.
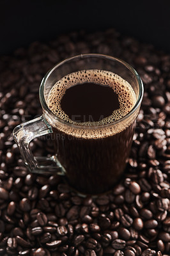
[[66, 178], [82, 193], [102, 193], [120, 178], [135, 121], [112, 125], [133, 108], [135, 93], [120, 76], [82, 70], [63, 77], [49, 93], [52, 112], [68, 125], [52, 124], [54, 147]]

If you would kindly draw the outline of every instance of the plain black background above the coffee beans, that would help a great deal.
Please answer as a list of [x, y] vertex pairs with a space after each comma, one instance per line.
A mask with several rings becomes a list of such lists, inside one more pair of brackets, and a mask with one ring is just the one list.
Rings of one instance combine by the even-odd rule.
[[170, 1], [0, 1], [0, 54], [69, 31], [105, 28], [170, 52]]

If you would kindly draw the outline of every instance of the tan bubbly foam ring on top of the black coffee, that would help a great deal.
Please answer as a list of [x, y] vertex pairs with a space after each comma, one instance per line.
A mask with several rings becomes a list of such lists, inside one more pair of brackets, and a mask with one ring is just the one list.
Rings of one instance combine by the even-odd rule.
[[[114, 90], [114, 92], [118, 95], [120, 108], [115, 109], [112, 112], [112, 115], [107, 116], [98, 122], [75, 122], [71, 120], [68, 117], [68, 115], [66, 115], [66, 113], [63, 111], [63, 109], [61, 109], [61, 99], [65, 94], [66, 89], [76, 84], [83, 84], [83, 83], [95, 83], [95, 84], [98, 84], [98, 86], [101, 86], [101, 85], [110, 86], [112, 90]], [[134, 90], [132, 86], [127, 81], [125, 81], [125, 79], [123, 79], [122, 77], [112, 72], [105, 71], [105, 70], [97, 70], [97, 69], [81, 70], [78, 72], [73, 72], [71, 74], [68, 74], [67, 76], [60, 79], [56, 84], [54, 84], [54, 86], [52, 86], [49, 92], [49, 96], [47, 98], [47, 106], [52, 111], [52, 113], [54, 113], [54, 115], [61, 118], [61, 120], [68, 122], [70, 124], [77, 125], [77, 127], [79, 126], [88, 126], [91, 128], [94, 127], [95, 134], [93, 132], [93, 129], [91, 129], [91, 131], [89, 129], [87, 130], [82, 129], [83, 131], [81, 131], [81, 129], [76, 130], [76, 129], [73, 129], [73, 127], [72, 129], [71, 128], [66, 129], [66, 126], [61, 124], [55, 125], [56, 128], [58, 128], [59, 130], [79, 138], [80, 137], [81, 138], [98, 138], [97, 136], [98, 125], [112, 124], [112, 122], [119, 120], [120, 118], [122, 118], [123, 116], [127, 115], [127, 113], [130, 112], [130, 110], [134, 107], [135, 102], [136, 102], [136, 97], [135, 97]], [[54, 126], [53, 123], [52, 123], [52, 126]], [[103, 132], [104, 130], [105, 129], [102, 129], [99, 132], [100, 134], [99, 137], [110, 136], [108, 132], [106, 133]], [[111, 128], [109, 128], [109, 130], [111, 130]], [[120, 129], [120, 131], [118, 131], [119, 129], [116, 129], [116, 130], [114, 132], [111, 132], [111, 134], [120, 132], [122, 128]]]

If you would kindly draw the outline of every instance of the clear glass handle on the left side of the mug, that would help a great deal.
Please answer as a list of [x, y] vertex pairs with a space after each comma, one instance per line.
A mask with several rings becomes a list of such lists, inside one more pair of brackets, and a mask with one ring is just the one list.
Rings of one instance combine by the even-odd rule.
[[27, 168], [29, 168], [30, 172], [56, 172], [58, 175], [64, 175], [65, 172], [63, 166], [61, 166], [56, 156], [34, 157], [29, 148], [31, 140], [49, 133], [52, 133], [52, 127], [42, 115], [15, 127], [13, 130], [13, 137], [20, 149], [20, 154], [24, 159], [24, 163]]

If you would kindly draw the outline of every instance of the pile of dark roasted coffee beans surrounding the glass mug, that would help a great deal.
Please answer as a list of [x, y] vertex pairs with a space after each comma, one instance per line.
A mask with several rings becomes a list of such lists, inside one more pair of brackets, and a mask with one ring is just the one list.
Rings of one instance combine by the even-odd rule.
[[[58, 61], [109, 54], [141, 75], [144, 99], [125, 177], [106, 195], [82, 198], [58, 175], [29, 173], [13, 128], [42, 114], [38, 88]], [[170, 255], [170, 55], [114, 29], [34, 42], [0, 59], [0, 255]], [[30, 143], [50, 156], [46, 136]]]

